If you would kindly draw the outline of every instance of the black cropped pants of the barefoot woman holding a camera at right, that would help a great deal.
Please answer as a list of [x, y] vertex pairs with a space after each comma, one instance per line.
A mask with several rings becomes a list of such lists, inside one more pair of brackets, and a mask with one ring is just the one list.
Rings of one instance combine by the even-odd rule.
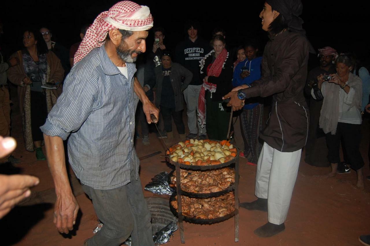
[[360, 153], [361, 125], [338, 122], [337, 132], [332, 135], [326, 134], [326, 144], [329, 149], [328, 161], [330, 163], [340, 162], [339, 147], [340, 138], [343, 137], [344, 149], [346, 151], [351, 168], [358, 170], [364, 166], [364, 160]]

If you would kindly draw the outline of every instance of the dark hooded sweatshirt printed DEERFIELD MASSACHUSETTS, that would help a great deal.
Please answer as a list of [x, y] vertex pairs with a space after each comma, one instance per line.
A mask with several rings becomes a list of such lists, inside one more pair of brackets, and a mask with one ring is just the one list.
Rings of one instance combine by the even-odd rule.
[[193, 78], [190, 85], [201, 85], [199, 61], [211, 51], [209, 44], [201, 37], [192, 42], [189, 37], [176, 46], [175, 61], [190, 70]]

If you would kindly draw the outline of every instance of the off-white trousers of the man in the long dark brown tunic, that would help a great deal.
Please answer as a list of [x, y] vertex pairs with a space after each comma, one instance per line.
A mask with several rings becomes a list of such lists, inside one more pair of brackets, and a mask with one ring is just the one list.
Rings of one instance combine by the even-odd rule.
[[296, 183], [302, 149], [280, 152], [263, 143], [256, 172], [255, 195], [267, 199], [270, 223], [284, 223]]

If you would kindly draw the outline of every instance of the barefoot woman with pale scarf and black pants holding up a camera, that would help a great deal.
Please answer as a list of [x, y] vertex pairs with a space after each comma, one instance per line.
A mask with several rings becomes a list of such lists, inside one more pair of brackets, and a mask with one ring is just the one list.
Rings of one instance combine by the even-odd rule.
[[[344, 149], [351, 164], [357, 172], [357, 184], [364, 189], [362, 169], [364, 161], [359, 147], [361, 141], [361, 97], [362, 81], [350, 73], [353, 68], [353, 59], [346, 54], [336, 59], [336, 74], [319, 75], [317, 82], [324, 97], [320, 114], [319, 125], [326, 134], [326, 143], [329, 149], [328, 160], [332, 172], [327, 176], [335, 176], [340, 162], [339, 147], [343, 137]], [[311, 95], [316, 99], [314, 90]]]

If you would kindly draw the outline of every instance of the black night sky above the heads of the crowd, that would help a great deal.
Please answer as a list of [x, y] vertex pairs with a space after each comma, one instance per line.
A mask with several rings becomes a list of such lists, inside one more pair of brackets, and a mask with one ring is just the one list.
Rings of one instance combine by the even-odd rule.
[[[214, 27], [225, 28], [229, 47], [254, 37], [263, 49], [268, 40], [259, 18], [263, 0], [136, 2], [150, 8], [154, 26], [165, 28], [165, 45], [168, 48], [174, 48], [185, 37], [183, 25], [187, 18], [201, 23], [199, 35], [206, 40], [211, 39]], [[3, 1], [0, 5], [0, 19], [4, 23], [2, 49], [9, 54], [22, 48], [23, 30], [29, 26], [50, 28], [52, 40], [69, 49], [71, 44], [80, 41], [80, 27], [92, 23], [99, 13], [115, 3], [117, 1], [113, 0]], [[340, 1], [303, 1], [303, 27], [314, 48], [332, 46], [340, 52], [353, 51], [363, 61], [367, 59], [369, 21], [367, 10], [361, 3], [364, 1], [347, 1], [345, 4]], [[153, 34], [150, 33], [148, 48], [151, 48], [152, 40]]]

